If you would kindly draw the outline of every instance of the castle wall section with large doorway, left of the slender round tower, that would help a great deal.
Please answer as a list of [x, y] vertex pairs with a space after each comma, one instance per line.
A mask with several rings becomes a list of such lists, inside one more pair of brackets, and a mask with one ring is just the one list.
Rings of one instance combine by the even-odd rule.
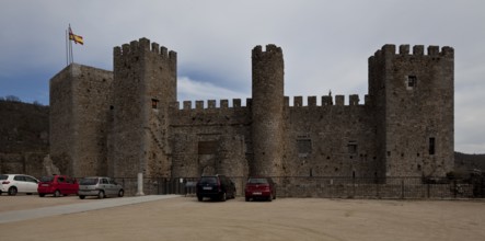
[[192, 110], [190, 103], [185, 102], [184, 110], [172, 110], [172, 176], [249, 175], [250, 110], [240, 106], [240, 100], [233, 103], [234, 106], [228, 107], [224, 100], [216, 108], [215, 101], [209, 101], [206, 107], [197, 102]]

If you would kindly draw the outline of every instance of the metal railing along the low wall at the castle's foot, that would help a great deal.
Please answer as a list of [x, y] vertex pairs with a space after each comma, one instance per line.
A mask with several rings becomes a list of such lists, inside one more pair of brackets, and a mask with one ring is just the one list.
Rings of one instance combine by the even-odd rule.
[[[151, 195], [194, 195], [199, 177], [143, 179], [143, 193]], [[244, 196], [247, 177], [230, 176], [236, 195]], [[342, 177], [342, 176], [274, 176], [278, 197], [325, 198], [474, 198], [484, 197], [484, 179], [423, 177]], [[137, 193], [136, 177], [116, 177], [126, 195]]]

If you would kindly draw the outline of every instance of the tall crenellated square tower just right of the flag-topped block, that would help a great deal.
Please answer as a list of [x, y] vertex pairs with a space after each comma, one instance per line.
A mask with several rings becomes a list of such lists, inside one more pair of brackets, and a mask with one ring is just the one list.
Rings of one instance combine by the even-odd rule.
[[170, 176], [169, 106], [176, 102], [176, 53], [147, 38], [114, 48], [109, 164], [114, 176]]

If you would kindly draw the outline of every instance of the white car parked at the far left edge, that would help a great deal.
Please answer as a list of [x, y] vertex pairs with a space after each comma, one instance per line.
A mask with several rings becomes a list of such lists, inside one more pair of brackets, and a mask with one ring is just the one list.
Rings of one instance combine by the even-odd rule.
[[1, 174], [0, 195], [8, 193], [11, 196], [18, 193], [33, 194], [37, 192], [38, 180], [25, 174]]

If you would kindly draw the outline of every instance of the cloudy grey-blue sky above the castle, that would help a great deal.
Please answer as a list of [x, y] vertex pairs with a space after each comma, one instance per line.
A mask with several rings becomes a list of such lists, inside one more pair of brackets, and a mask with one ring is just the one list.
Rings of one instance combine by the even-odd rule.
[[451, 46], [455, 151], [485, 153], [484, 23], [483, 0], [1, 0], [0, 97], [49, 104], [69, 24], [81, 65], [113, 70], [113, 47], [141, 37], [175, 50], [180, 102], [245, 104], [256, 45], [282, 48], [285, 95], [304, 104], [330, 91], [363, 100], [385, 44]]

